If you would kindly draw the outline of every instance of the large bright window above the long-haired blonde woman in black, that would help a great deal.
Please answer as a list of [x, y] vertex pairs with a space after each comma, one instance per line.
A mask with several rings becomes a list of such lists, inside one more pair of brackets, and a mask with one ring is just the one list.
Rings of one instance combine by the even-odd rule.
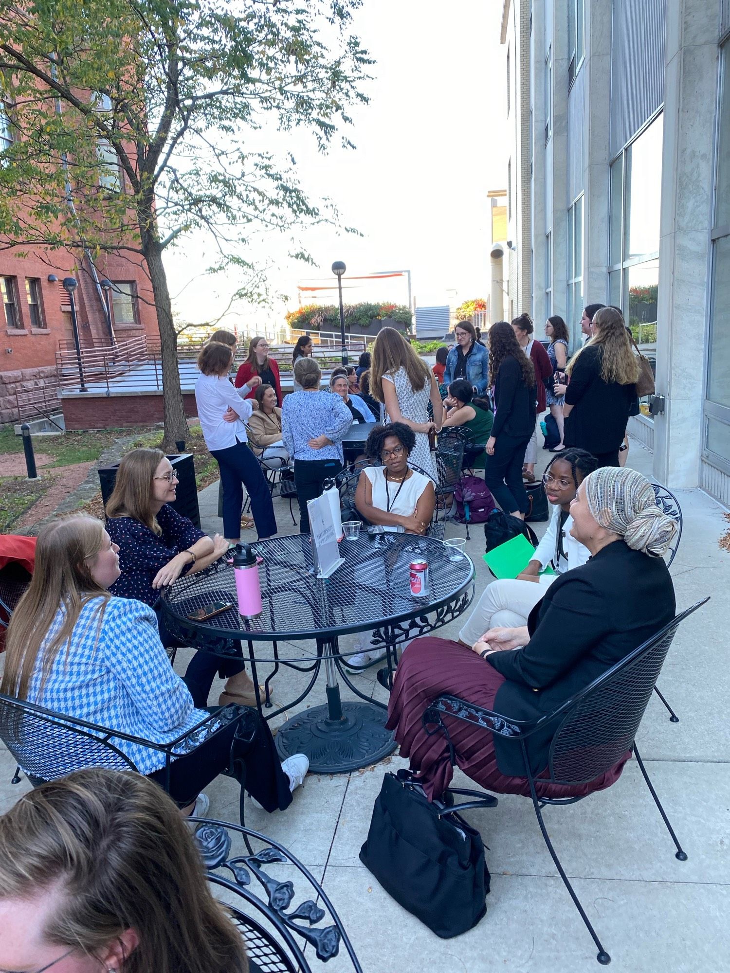
[[[663, 116], [611, 163], [608, 302], [621, 307], [634, 340], [656, 363]], [[651, 418], [648, 397], [641, 414]]]

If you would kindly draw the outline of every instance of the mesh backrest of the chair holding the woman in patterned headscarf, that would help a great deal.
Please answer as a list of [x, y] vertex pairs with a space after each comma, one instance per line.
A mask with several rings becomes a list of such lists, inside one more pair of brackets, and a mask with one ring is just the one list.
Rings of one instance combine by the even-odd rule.
[[566, 703], [550, 746], [550, 780], [565, 784], [594, 780], [633, 746], [675, 631], [705, 601], [675, 616]]

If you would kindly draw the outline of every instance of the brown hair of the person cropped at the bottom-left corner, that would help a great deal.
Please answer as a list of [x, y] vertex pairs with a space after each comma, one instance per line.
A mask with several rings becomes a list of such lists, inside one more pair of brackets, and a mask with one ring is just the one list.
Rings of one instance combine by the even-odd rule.
[[120, 973], [247, 973], [241, 935], [212, 896], [183, 816], [145, 776], [75, 771], [0, 817], [0, 899], [51, 888], [57, 905], [43, 938], [59, 949], [98, 959], [133, 929], [139, 943]]

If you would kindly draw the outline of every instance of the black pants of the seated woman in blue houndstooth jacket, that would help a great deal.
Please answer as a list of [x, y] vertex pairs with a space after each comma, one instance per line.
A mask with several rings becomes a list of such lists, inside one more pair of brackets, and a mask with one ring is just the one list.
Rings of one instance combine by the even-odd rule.
[[[211, 707], [209, 712], [217, 708]], [[241, 802], [245, 789], [267, 811], [289, 807], [289, 778], [281, 770], [269, 724], [255, 709], [248, 708], [193, 753], [172, 761], [167, 793], [178, 808], [187, 808], [211, 780], [229, 770], [232, 762], [241, 785]], [[148, 776], [164, 788], [166, 773], [163, 769]]]

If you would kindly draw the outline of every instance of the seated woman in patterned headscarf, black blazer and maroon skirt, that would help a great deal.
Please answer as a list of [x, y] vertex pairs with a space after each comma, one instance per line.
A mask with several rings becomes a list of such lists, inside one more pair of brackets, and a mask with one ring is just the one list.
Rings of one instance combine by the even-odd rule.
[[[501, 713], [534, 720], [590, 685], [675, 616], [675, 591], [662, 555], [676, 525], [657, 507], [651, 484], [636, 470], [604, 467], [579, 486], [570, 504], [570, 533], [591, 559], [547, 589], [521, 629], [486, 631], [473, 647], [417, 638], [403, 653], [388, 705], [387, 728], [420, 774], [429, 800], [449, 786], [449, 743], [427, 736], [423, 710], [448, 693]], [[529, 794], [519, 744], [449, 720], [456, 764], [487, 790]], [[527, 741], [532, 772], [548, 764], [556, 726]], [[538, 783], [538, 797], [577, 797], [609, 786], [630, 758], [588, 783]]]

